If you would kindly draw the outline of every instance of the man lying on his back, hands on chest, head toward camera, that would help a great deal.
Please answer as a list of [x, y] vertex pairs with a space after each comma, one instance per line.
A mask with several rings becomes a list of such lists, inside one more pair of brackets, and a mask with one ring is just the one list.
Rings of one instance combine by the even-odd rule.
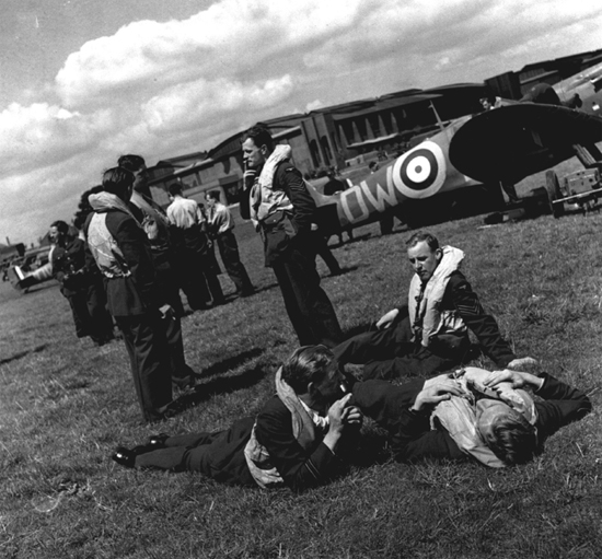
[[490, 467], [531, 461], [551, 434], [591, 410], [586, 394], [546, 373], [465, 371], [402, 386], [357, 383], [354, 404], [389, 431], [401, 462], [472, 456]]

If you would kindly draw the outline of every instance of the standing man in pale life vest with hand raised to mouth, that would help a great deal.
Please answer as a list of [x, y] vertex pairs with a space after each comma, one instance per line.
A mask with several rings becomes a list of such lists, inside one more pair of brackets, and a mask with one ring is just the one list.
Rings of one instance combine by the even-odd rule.
[[254, 126], [244, 135], [245, 167], [255, 171], [251, 193], [243, 193], [274, 269], [285, 306], [302, 346], [334, 347], [343, 339], [331, 300], [320, 287], [311, 234], [315, 202], [301, 173], [290, 163], [290, 145], [275, 145], [269, 131]]

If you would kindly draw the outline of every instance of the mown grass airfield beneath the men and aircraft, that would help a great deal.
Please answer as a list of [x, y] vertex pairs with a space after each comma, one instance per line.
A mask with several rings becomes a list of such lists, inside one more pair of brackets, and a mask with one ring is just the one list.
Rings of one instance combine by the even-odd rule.
[[[0, 557], [602, 557], [602, 216], [482, 223], [429, 230], [466, 252], [463, 269], [516, 352], [536, 357], [594, 405], [534, 463], [396, 464], [367, 429], [350, 474], [301, 496], [114, 464], [118, 444], [225, 428], [274, 392], [296, 339], [259, 241], [243, 228], [241, 252], [259, 292], [184, 318], [187, 361], [202, 372], [204, 391], [153, 428], [140, 422], [123, 343], [79, 341], [51, 282], [26, 295], [0, 287]], [[381, 237], [370, 225], [356, 236], [335, 249], [346, 273], [328, 278], [319, 261], [346, 330], [400, 303], [410, 277], [407, 233]]]

